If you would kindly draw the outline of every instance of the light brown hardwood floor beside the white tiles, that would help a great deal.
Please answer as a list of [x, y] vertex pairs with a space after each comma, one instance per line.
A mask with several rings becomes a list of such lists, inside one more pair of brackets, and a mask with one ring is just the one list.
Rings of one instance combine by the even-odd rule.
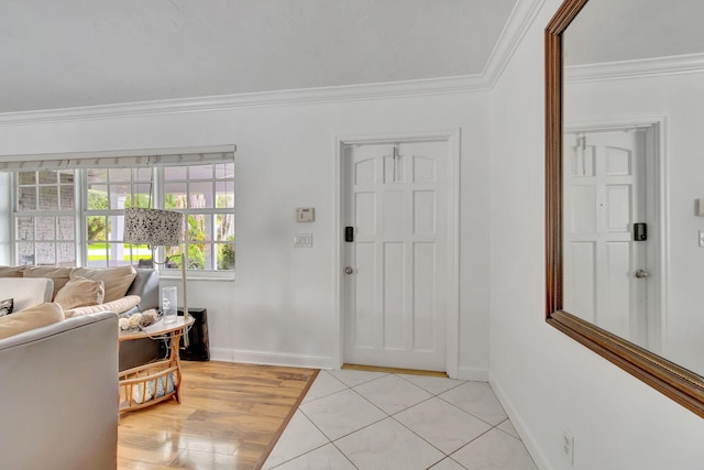
[[182, 362], [175, 400], [125, 413], [118, 428], [120, 469], [258, 469], [318, 371]]

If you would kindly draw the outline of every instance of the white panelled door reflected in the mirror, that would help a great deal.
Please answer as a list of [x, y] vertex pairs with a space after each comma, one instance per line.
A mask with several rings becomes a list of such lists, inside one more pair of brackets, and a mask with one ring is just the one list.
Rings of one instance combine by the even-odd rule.
[[[564, 136], [564, 308], [645, 346], [648, 337], [646, 131]], [[636, 240], [637, 223], [650, 233]]]

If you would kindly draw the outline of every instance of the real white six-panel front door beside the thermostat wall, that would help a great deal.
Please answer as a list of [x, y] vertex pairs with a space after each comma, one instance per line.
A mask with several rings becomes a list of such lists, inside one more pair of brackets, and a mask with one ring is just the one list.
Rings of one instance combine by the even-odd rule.
[[448, 142], [345, 144], [342, 156], [344, 362], [444, 371]]

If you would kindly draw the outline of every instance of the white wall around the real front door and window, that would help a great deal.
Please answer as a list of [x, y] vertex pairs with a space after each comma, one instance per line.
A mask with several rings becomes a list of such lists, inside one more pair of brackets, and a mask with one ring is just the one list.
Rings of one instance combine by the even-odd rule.
[[[460, 373], [487, 376], [487, 94], [0, 125], [0, 155], [234, 143], [237, 280], [191, 281], [213, 358], [338, 367], [336, 138], [461, 128]], [[294, 222], [294, 208], [316, 221]], [[311, 249], [294, 249], [298, 231]]]

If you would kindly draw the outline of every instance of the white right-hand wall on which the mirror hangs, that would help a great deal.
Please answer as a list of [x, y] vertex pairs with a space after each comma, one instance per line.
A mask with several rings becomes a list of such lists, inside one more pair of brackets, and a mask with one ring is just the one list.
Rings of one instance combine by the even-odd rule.
[[704, 419], [544, 323], [543, 29], [559, 4], [491, 94], [491, 383], [543, 470], [701, 469]]

